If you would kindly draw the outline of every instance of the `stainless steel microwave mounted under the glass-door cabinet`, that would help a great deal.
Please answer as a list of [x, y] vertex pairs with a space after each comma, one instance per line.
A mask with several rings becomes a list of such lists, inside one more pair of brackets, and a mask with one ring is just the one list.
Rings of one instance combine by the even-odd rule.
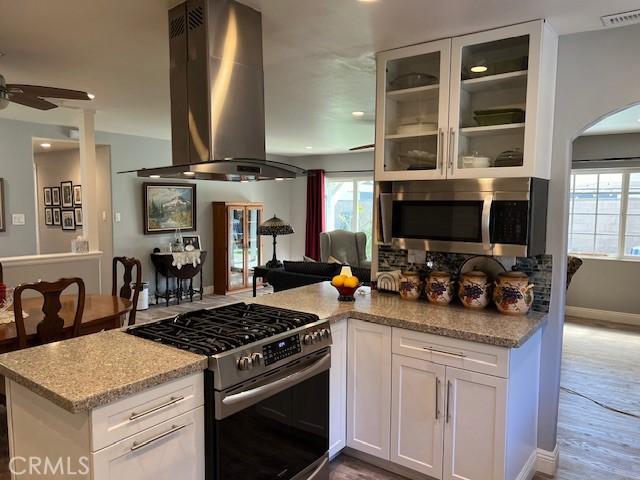
[[480, 255], [545, 252], [549, 181], [395, 182], [380, 194], [382, 240], [394, 248]]

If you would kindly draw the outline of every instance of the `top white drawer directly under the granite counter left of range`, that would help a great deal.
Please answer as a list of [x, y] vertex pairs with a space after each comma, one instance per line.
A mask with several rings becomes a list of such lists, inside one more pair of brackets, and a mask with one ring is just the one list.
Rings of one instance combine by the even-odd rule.
[[91, 451], [204, 404], [204, 375], [196, 373], [96, 408], [91, 412]]

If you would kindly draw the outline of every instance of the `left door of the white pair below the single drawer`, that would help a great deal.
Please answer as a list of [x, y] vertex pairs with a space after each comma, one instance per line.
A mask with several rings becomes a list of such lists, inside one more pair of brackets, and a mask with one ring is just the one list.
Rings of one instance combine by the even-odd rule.
[[393, 355], [391, 461], [442, 478], [445, 367]]

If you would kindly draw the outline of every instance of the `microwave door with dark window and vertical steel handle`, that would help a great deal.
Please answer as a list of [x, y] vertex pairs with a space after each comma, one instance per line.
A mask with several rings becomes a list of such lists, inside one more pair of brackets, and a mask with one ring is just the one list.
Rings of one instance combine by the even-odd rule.
[[493, 193], [396, 193], [391, 205], [395, 248], [488, 255]]

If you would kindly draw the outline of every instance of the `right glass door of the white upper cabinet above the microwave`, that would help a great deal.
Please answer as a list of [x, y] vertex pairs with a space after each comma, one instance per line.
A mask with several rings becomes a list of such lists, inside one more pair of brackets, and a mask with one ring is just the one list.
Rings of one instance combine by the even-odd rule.
[[539, 38], [525, 24], [453, 40], [449, 176], [527, 176], [535, 138], [525, 127], [529, 116], [535, 121], [529, 84], [537, 81]]

